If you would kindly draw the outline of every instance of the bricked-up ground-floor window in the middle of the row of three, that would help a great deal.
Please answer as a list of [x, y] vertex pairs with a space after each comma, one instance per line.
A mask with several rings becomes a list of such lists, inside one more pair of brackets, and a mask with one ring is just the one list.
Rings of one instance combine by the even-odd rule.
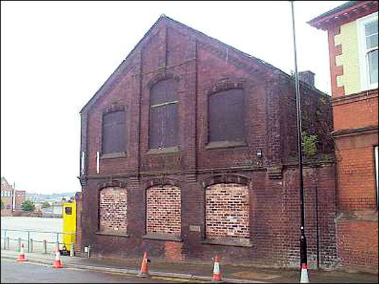
[[153, 186], [146, 190], [146, 232], [181, 235], [181, 189]]

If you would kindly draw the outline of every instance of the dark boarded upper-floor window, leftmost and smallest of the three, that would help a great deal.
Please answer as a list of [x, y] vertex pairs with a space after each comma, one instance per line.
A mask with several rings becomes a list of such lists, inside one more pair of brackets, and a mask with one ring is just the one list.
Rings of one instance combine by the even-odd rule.
[[125, 111], [104, 113], [102, 122], [102, 153], [126, 151]]

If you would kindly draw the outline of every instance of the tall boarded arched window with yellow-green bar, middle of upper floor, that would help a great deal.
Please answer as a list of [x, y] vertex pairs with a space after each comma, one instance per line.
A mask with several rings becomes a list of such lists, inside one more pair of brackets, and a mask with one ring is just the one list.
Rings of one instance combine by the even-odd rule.
[[150, 89], [150, 149], [179, 145], [178, 87], [178, 81], [169, 79]]

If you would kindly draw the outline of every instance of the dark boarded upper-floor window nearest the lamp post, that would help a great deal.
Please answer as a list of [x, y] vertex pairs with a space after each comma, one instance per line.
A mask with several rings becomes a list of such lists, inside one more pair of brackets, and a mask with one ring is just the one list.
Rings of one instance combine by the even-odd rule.
[[209, 142], [244, 142], [244, 92], [228, 89], [209, 96]]

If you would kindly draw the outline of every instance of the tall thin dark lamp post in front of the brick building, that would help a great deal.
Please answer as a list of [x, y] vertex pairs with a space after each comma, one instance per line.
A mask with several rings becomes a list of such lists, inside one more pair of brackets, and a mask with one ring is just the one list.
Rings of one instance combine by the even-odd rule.
[[301, 207], [301, 226], [300, 226], [300, 268], [302, 264], [307, 264], [307, 241], [304, 222], [304, 196], [303, 196], [303, 155], [301, 151], [302, 133], [301, 133], [301, 98], [299, 87], [299, 76], [297, 74], [297, 54], [296, 54], [296, 36], [295, 36], [295, 16], [293, 12], [293, 1], [291, 2], [292, 11], [292, 31], [293, 31], [293, 49], [295, 56], [295, 85], [296, 85], [296, 106], [297, 106], [297, 155], [299, 158], [299, 185], [300, 185], [300, 207]]

